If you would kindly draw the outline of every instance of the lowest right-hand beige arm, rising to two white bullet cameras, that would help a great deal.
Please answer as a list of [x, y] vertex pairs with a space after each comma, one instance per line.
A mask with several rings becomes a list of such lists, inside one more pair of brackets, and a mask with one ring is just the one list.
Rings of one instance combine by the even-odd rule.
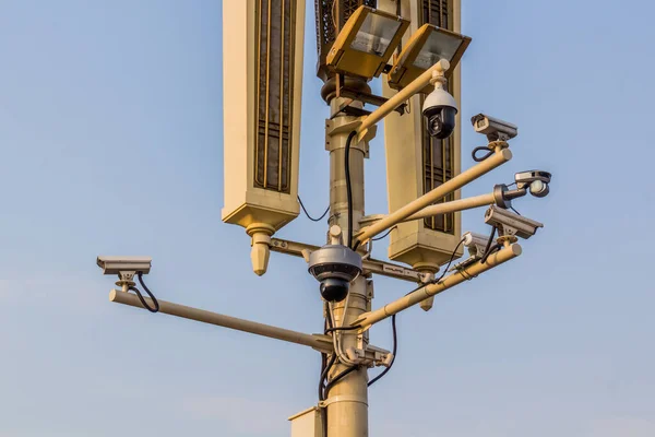
[[376, 309], [374, 311], [367, 312], [362, 315], [359, 319], [357, 319], [353, 324], [360, 324], [362, 330], [368, 329], [372, 324], [386, 319], [388, 317], [393, 316], [404, 309], [409, 308], [420, 302], [430, 298], [441, 292], [444, 292], [453, 286], [461, 284], [464, 281], [471, 280], [480, 273], [484, 273], [497, 265], [502, 264], [511, 259], [519, 257], [522, 252], [521, 246], [519, 244], [513, 244], [505, 246], [500, 249], [498, 252], [491, 255], [486, 263], [476, 262], [471, 267], [462, 271], [454, 272], [446, 276], [439, 283], [426, 285], [422, 288], [419, 288], [408, 295], [401, 297], [397, 300], [392, 302], [391, 304], [386, 304], [382, 308]]

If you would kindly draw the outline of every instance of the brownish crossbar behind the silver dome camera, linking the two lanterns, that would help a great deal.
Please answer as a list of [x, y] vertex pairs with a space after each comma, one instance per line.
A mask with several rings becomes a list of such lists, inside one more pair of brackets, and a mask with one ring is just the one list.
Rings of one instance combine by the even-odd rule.
[[[271, 238], [271, 250], [274, 252], [305, 258], [306, 255], [319, 249], [319, 246], [307, 245], [305, 243]], [[409, 281], [414, 283], [426, 283], [430, 281], [429, 274], [386, 261], [369, 258], [362, 260], [361, 264], [364, 268], [364, 274], [380, 274], [382, 276], [395, 277], [397, 280]]]

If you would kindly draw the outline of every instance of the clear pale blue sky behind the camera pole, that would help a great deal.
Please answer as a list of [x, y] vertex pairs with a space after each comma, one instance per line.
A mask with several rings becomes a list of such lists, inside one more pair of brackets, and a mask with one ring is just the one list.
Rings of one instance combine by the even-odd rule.
[[[237, 1], [237, 0], [228, 0]], [[655, 435], [652, 42], [645, 0], [464, 0], [463, 119], [520, 127], [516, 170], [553, 173], [516, 202], [544, 222], [524, 255], [398, 317], [370, 391], [370, 434]], [[309, 2], [300, 194], [327, 203]], [[314, 280], [223, 224], [222, 3], [0, 0], [0, 436], [283, 437], [317, 402], [319, 355], [110, 304], [99, 253], [151, 255], [158, 297], [305, 332]], [[463, 167], [484, 138], [464, 121]], [[367, 212], [386, 211], [380, 137]], [[486, 232], [484, 211], [463, 227]], [[300, 216], [281, 237], [321, 244]], [[384, 245], [377, 256], [383, 257]], [[376, 282], [374, 307], [407, 285]], [[389, 323], [372, 342], [391, 347]]]

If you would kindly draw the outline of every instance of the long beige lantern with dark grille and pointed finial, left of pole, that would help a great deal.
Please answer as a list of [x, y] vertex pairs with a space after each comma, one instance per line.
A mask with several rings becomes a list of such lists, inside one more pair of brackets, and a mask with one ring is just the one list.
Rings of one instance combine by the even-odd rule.
[[[291, 15], [295, 23], [295, 38], [289, 43], [294, 48], [293, 101], [290, 103], [290, 163], [288, 166], [288, 192], [277, 192], [255, 186], [255, 154], [258, 139], [258, 88], [260, 72], [257, 40], [260, 31], [255, 4], [259, 0], [223, 2], [223, 74], [224, 74], [224, 191], [225, 204], [223, 221], [242, 226], [252, 237], [252, 263], [257, 274], [267, 268], [267, 239], [299, 213], [298, 162], [300, 145], [300, 110], [302, 93], [302, 50], [305, 44], [305, 1], [291, 0]], [[286, 4], [286, 2], [285, 2]], [[267, 3], [271, 8], [271, 1]], [[284, 5], [282, 5], [284, 8]], [[261, 14], [260, 14], [261, 15]], [[269, 14], [271, 15], [271, 14]], [[269, 31], [271, 31], [271, 24]], [[284, 33], [284, 25], [282, 28]], [[284, 48], [283, 48], [284, 50]], [[264, 64], [266, 64], [264, 62]], [[273, 66], [266, 67], [266, 75]], [[283, 86], [272, 84], [270, 86]], [[266, 93], [266, 102], [269, 94]], [[282, 108], [281, 102], [281, 108]], [[266, 120], [266, 134], [270, 122]], [[282, 134], [281, 134], [282, 137]], [[266, 141], [267, 141], [267, 137]], [[281, 140], [282, 141], [282, 140]], [[267, 151], [267, 149], [265, 149]], [[279, 160], [282, 165], [282, 160]], [[279, 170], [282, 175], [282, 170]], [[282, 177], [282, 176], [279, 176]]]

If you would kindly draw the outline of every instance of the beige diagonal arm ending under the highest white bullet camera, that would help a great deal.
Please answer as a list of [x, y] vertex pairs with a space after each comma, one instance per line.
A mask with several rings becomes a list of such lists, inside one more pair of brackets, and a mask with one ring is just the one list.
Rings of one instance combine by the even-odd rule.
[[415, 214], [424, 208], [430, 205], [431, 203], [443, 199], [449, 193], [458, 190], [466, 184], [469, 184], [478, 177], [491, 172], [492, 169], [507, 163], [511, 158], [512, 152], [510, 152], [509, 149], [503, 149], [495, 152], [493, 155], [489, 156], [481, 163], [478, 163], [475, 166], [468, 168], [467, 170], [462, 172], [454, 178], [448, 180], [445, 184], [440, 185], [439, 187], [427, 192], [420, 198], [407, 203], [405, 206], [394, 211], [393, 213], [386, 215], [379, 222], [376, 222], [371, 226], [365, 228], [364, 232], [357, 236], [357, 240], [359, 240], [360, 244], [366, 243], [369, 238], [372, 238], [376, 235], [381, 234], [384, 231], [397, 225], [405, 218], [409, 217], [412, 214]]

